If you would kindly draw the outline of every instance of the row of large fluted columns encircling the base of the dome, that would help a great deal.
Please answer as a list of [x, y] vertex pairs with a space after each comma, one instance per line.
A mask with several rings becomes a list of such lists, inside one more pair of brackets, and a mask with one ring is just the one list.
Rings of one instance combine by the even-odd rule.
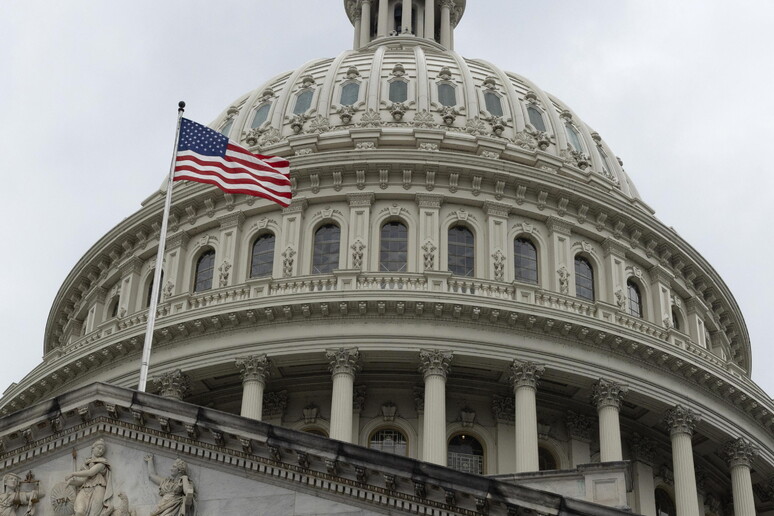
[[[330, 438], [354, 442], [353, 401], [354, 382], [360, 370], [357, 348], [330, 349], [326, 352], [332, 377]], [[424, 417], [422, 460], [446, 465], [447, 419], [446, 379], [451, 370], [453, 354], [448, 350], [421, 350], [419, 371], [424, 378]], [[238, 358], [235, 365], [242, 374], [243, 394], [241, 415], [261, 420], [263, 395], [271, 374], [272, 362], [266, 355]], [[515, 473], [538, 471], [538, 424], [536, 394], [543, 365], [514, 360], [510, 366], [510, 381], [515, 409]], [[189, 380], [180, 370], [155, 379], [161, 395], [181, 400], [189, 390]], [[599, 379], [592, 386], [591, 401], [596, 406], [599, 424], [600, 462], [623, 460], [620, 429], [620, 409], [628, 388], [615, 381]], [[696, 468], [692, 437], [700, 417], [690, 408], [677, 405], [668, 410], [664, 423], [672, 444], [675, 505], [679, 516], [700, 516], [703, 500], [697, 492]], [[645, 515], [656, 514], [653, 493], [652, 460], [655, 443], [638, 435], [630, 442], [632, 472], [637, 484], [634, 509]], [[751, 469], [758, 450], [743, 438], [728, 442], [723, 455], [731, 472], [735, 516], [754, 516]], [[650, 462], [650, 464], [648, 464]]]

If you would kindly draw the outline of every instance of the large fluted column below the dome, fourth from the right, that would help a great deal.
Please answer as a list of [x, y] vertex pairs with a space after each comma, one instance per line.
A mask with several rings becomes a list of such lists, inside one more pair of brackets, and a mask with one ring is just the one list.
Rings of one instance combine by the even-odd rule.
[[545, 367], [535, 362], [514, 360], [511, 364], [514, 409], [516, 413], [516, 473], [537, 471], [537, 383]]

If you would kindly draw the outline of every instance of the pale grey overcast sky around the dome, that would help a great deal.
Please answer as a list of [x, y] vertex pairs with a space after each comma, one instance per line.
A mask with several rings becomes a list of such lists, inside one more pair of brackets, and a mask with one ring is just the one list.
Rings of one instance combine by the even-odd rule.
[[[774, 2], [468, 0], [456, 50], [558, 96], [724, 278], [774, 393]], [[339, 0], [0, 1], [0, 391], [39, 363], [76, 261], [167, 173], [176, 107], [352, 44]]]

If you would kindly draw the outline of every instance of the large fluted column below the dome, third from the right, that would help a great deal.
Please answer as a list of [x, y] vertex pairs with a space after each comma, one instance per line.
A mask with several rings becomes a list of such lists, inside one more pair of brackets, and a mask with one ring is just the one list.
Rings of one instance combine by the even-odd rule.
[[591, 399], [599, 415], [599, 460], [617, 462], [623, 460], [621, 451], [621, 423], [619, 412], [629, 389], [617, 382], [599, 379], [594, 384]]

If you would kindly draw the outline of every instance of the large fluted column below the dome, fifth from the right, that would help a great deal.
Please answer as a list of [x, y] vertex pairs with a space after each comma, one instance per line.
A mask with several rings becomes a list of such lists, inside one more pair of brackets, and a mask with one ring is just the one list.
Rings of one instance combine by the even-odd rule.
[[451, 351], [423, 349], [419, 370], [425, 378], [425, 414], [422, 460], [446, 466], [446, 376]]

